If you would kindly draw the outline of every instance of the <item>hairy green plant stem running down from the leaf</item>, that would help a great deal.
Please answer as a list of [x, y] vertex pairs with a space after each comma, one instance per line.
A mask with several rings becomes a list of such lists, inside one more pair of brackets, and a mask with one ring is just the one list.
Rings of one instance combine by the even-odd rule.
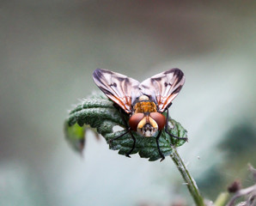
[[196, 203], [197, 206], [204, 206], [204, 198], [200, 195], [195, 180], [192, 179], [192, 176], [188, 172], [186, 165], [180, 158], [180, 154], [178, 154], [176, 148], [173, 147], [173, 149], [174, 153], [171, 154], [170, 156], [173, 159], [175, 165], [178, 167], [182, 178], [185, 180], [188, 191], [190, 191], [190, 194], [192, 195], [194, 202]]

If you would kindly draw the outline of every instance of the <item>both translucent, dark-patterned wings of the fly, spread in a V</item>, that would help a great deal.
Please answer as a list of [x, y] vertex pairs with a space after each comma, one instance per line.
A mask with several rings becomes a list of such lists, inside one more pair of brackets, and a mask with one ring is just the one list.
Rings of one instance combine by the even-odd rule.
[[177, 68], [152, 76], [142, 83], [103, 69], [94, 70], [93, 78], [101, 91], [127, 113], [132, 112], [133, 104], [142, 94], [155, 101], [159, 112], [164, 112], [185, 83], [183, 72]]

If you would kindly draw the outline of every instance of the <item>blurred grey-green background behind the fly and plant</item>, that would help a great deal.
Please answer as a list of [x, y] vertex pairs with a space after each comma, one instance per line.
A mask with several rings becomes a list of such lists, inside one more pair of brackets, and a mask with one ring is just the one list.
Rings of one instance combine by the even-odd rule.
[[186, 84], [170, 113], [204, 197], [256, 166], [253, 1], [0, 2], [0, 205], [192, 204], [170, 158], [149, 162], [88, 134], [83, 158], [64, 140], [72, 104], [96, 68], [143, 81], [178, 67]]

